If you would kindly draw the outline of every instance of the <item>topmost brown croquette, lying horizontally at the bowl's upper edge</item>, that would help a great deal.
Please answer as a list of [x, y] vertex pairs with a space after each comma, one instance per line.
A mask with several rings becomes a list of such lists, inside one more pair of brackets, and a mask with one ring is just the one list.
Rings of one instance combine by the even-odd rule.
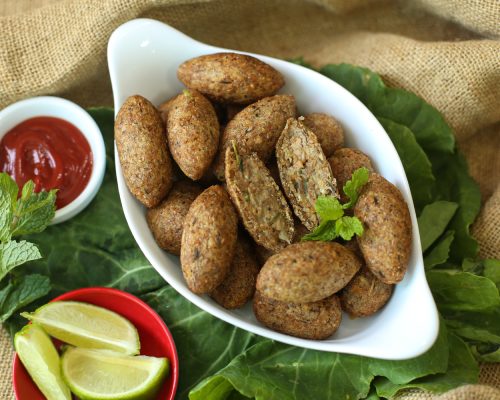
[[211, 100], [236, 104], [272, 96], [285, 84], [283, 76], [270, 65], [237, 53], [193, 58], [179, 66], [177, 76]]

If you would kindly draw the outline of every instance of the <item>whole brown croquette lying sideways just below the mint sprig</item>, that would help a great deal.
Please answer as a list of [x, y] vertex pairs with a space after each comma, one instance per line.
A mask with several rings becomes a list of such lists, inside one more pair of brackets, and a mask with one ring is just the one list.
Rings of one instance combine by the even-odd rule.
[[271, 299], [308, 303], [338, 292], [361, 267], [361, 261], [335, 242], [300, 242], [267, 260], [257, 290]]

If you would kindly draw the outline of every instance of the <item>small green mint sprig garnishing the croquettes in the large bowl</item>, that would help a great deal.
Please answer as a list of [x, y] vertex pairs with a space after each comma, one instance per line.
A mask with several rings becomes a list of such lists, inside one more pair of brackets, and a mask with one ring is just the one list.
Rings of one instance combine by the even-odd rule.
[[344, 210], [352, 208], [358, 201], [363, 186], [368, 182], [369, 171], [366, 168], [358, 168], [343, 187], [349, 201], [341, 204], [333, 196], [319, 196], [314, 208], [318, 214], [320, 224], [312, 232], [304, 235], [302, 241], [324, 241], [330, 242], [338, 237], [351, 240], [354, 235], [363, 234], [363, 224], [357, 217], [344, 215]]

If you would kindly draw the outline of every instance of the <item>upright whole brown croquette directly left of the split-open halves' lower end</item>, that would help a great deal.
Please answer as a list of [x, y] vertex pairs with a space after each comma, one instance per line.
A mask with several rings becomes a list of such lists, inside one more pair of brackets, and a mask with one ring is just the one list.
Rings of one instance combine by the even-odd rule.
[[189, 289], [210, 293], [225, 279], [234, 256], [238, 219], [222, 186], [211, 186], [191, 204], [181, 240], [182, 273]]

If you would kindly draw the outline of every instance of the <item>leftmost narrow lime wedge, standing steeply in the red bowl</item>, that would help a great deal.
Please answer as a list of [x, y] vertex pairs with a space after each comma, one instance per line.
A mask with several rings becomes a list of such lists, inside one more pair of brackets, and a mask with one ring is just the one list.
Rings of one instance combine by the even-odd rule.
[[26, 325], [14, 336], [14, 347], [48, 400], [71, 399], [71, 393], [61, 377], [59, 354], [42, 328], [36, 324]]

